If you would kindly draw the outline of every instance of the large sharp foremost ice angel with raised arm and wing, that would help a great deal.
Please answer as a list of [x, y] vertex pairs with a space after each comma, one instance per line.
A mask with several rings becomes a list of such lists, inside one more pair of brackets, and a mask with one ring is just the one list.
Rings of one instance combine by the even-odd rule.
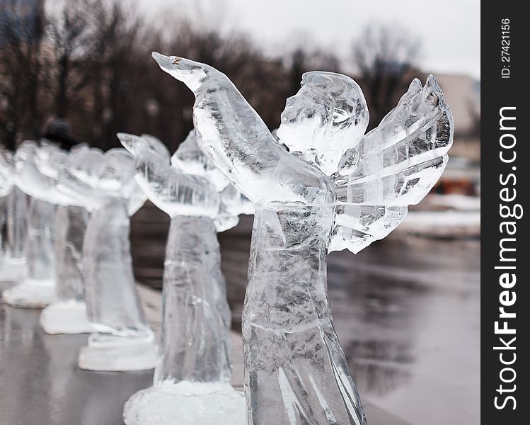
[[287, 152], [224, 74], [153, 55], [195, 94], [197, 145], [255, 205], [243, 308], [248, 424], [365, 424], [333, 329], [327, 255], [385, 237], [442, 174], [453, 123], [437, 82], [415, 79], [364, 135], [355, 81], [306, 73], [277, 132]]

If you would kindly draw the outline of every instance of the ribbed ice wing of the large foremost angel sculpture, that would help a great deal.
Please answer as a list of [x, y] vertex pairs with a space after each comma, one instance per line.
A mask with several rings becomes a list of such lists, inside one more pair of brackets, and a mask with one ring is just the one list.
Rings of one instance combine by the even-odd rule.
[[330, 251], [357, 253], [386, 237], [408, 205], [427, 195], [447, 164], [453, 118], [430, 76], [415, 79], [398, 106], [348, 150], [333, 175], [338, 208]]

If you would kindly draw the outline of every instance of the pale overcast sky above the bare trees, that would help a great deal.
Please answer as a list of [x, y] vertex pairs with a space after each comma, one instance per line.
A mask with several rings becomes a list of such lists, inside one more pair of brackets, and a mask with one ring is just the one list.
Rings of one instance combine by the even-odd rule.
[[[248, 33], [265, 52], [299, 42], [335, 52], [351, 67], [351, 44], [367, 23], [399, 23], [422, 42], [428, 72], [480, 78], [480, 0], [142, 0], [151, 11], [188, 13], [204, 25]], [[200, 5], [200, 6], [197, 6]], [[197, 13], [197, 8], [207, 12]], [[174, 52], [175, 54], [177, 52]], [[350, 63], [348, 63], [348, 61]]]

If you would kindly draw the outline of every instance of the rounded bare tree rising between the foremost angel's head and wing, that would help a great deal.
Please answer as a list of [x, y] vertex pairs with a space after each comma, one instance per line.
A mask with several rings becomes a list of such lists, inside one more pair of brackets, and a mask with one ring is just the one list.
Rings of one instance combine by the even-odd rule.
[[374, 128], [406, 91], [420, 41], [401, 26], [371, 24], [362, 30], [352, 50], [359, 83], [367, 94], [370, 128]]

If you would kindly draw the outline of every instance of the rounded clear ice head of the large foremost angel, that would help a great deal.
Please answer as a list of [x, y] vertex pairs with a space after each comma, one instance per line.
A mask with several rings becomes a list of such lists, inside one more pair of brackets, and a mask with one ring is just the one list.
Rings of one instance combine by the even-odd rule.
[[330, 176], [342, 154], [364, 135], [369, 121], [362, 90], [350, 77], [306, 72], [301, 89], [287, 99], [277, 135]]

